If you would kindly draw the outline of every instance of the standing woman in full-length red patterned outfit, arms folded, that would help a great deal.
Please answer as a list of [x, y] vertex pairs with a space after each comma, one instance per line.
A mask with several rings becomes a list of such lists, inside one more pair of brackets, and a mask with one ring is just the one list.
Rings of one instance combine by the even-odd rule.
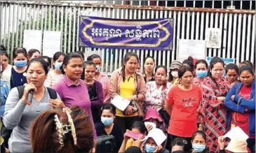
[[214, 57], [210, 61], [208, 77], [203, 80], [203, 131], [210, 152], [218, 152], [217, 138], [226, 133], [227, 109], [224, 100], [229, 92], [229, 81], [222, 75], [224, 61]]

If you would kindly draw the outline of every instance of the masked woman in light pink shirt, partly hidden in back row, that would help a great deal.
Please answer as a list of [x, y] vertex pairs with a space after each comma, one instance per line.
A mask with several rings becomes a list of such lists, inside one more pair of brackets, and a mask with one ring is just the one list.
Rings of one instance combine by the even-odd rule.
[[102, 59], [98, 54], [92, 54], [87, 58], [87, 61], [93, 61], [96, 65], [95, 80], [102, 84], [103, 89], [103, 103], [110, 101], [109, 78], [102, 73]]

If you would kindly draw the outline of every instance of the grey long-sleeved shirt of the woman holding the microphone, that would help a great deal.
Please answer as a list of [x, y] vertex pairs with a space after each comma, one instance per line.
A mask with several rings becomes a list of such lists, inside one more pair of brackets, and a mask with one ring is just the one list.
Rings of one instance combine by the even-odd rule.
[[[4, 112], [4, 126], [6, 129], [13, 129], [8, 142], [10, 152], [31, 152], [29, 128], [41, 112], [51, 108], [48, 105], [50, 95], [47, 89], [45, 91], [41, 101], [32, 99], [31, 105], [27, 105], [19, 99], [18, 89], [11, 89]], [[60, 99], [59, 95], [57, 97]]]

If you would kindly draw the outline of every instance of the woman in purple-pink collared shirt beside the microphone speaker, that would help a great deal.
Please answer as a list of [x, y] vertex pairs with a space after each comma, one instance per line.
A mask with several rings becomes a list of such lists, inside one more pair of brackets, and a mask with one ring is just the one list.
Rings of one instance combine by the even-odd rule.
[[[90, 116], [91, 122], [93, 122], [92, 113], [90, 111], [90, 96], [88, 89], [80, 76], [83, 72], [83, 58], [76, 52], [71, 52], [65, 55], [62, 63], [62, 73], [65, 74], [64, 78], [60, 80], [58, 84], [53, 86], [53, 89], [58, 92], [60, 99], [65, 103], [65, 106], [71, 107], [72, 105], [78, 105], [80, 108], [86, 110]], [[96, 147], [96, 131], [93, 124], [93, 138], [95, 152]]]

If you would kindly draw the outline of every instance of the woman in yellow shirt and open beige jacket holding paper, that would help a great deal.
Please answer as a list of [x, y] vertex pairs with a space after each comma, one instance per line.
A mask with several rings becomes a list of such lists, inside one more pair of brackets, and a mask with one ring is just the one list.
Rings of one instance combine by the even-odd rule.
[[[143, 75], [136, 72], [138, 61], [137, 54], [128, 52], [124, 57], [123, 66], [112, 73], [110, 78], [110, 95], [112, 99], [119, 95], [128, 101], [137, 101], [138, 105], [144, 100], [146, 87]], [[139, 111], [134, 111], [130, 105], [124, 111], [116, 108], [114, 122], [119, 125], [122, 133], [125, 133], [126, 129], [130, 129], [133, 122], [139, 120], [139, 112], [140, 107]]]

